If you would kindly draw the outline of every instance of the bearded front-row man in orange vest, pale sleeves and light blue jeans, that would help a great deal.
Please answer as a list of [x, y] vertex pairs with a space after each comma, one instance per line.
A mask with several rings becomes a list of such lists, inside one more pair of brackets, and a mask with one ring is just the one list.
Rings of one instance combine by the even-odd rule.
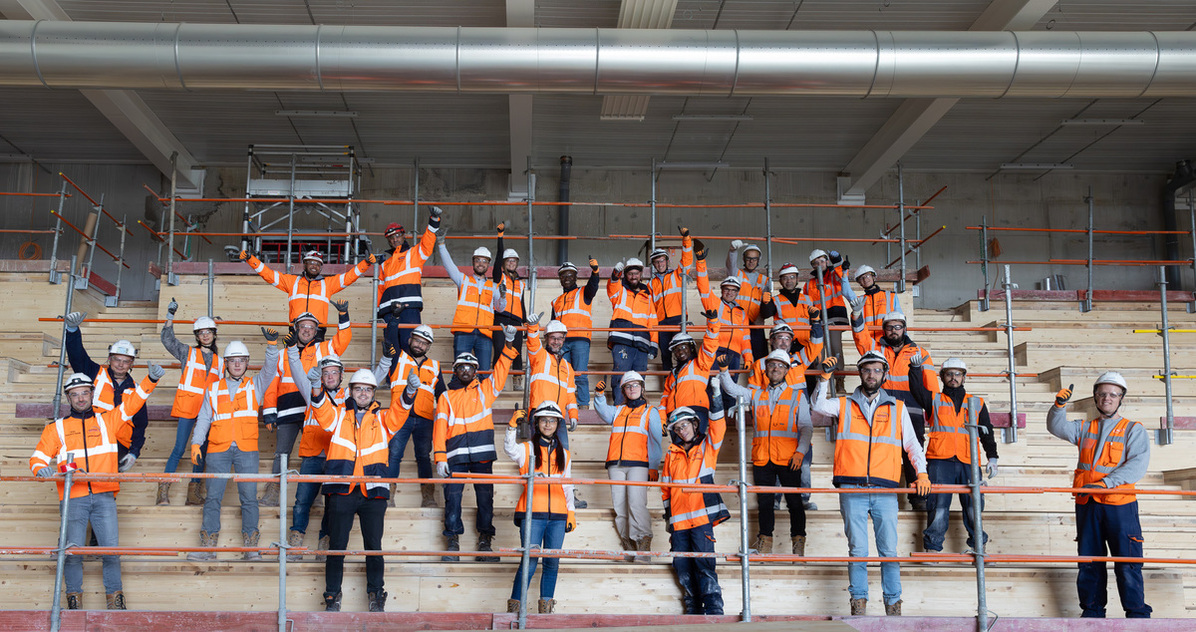
[[[922, 444], [914, 434], [909, 411], [902, 400], [884, 388], [889, 360], [869, 351], [855, 364], [860, 385], [848, 396], [828, 399], [830, 378], [838, 360], [823, 360], [823, 373], [812, 397], [816, 413], [836, 419], [835, 466], [831, 482], [841, 488], [892, 490], [901, 486], [902, 452], [909, 456], [917, 472], [910, 484], [919, 496], [930, 493], [926, 474]], [[838, 497], [840, 512], [847, 533], [848, 554], [861, 558], [868, 554], [868, 518], [877, 536], [877, 553], [883, 558], [897, 557], [897, 494], [844, 493]], [[868, 607], [868, 567], [866, 563], [848, 563], [848, 594], [853, 616], [862, 616]], [[901, 565], [880, 563], [880, 584], [884, 589], [885, 614], [901, 615]]]

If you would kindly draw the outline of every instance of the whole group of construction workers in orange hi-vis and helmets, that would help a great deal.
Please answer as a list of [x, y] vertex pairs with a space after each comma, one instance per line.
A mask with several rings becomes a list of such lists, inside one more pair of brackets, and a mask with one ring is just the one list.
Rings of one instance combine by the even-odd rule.
[[[354, 371], [347, 383], [342, 356], [352, 338], [349, 309], [347, 302], [332, 297], [378, 263], [372, 254], [343, 274], [324, 276], [323, 257], [315, 250], [303, 255], [304, 269], [298, 275], [275, 272], [250, 253], [240, 253], [267, 282], [288, 296], [291, 327], [283, 334], [262, 328], [267, 351], [252, 377], [243, 341], [233, 340], [218, 350], [213, 318], [195, 318], [194, 345], [176, 338], [173, 318], [179, 306], [171, 299], [161, 342], [179, 361], [181, 376], [170, 413], [178, 429], [166, 470], [175, 472], [189, 454], [193, 472], [218, 475], [203, 482], [193, 479], [188, 485], [187, 504], [203, 505], [200, 546], [189, 559], [215, 559], [226, 482], [231, 473], [258, 472], [260, 426], [264, 425], [275, 438], [273, 473], [281, 472], [283, 463], [293, 466], [287, 458], [299, 439], [300, 474], [352, 476], [343, 482], [297, 486], [288, 548], [304, 546], [311, 509], [323, 502], [317, 551], [344, 551], [354, 516], [364, 547], [379, 551], [385, 511], [393, 506], [396, 488], [368, 479], [397, 478], [411, 443], [420, 479], [472, 476], [476, 559], [498, 561], [493, 549], [494, 487], [478, 482], [478, 476], [494, 473], [494, 406], [524, 356], [526, 407], [511, 415], [502, 443], [520, 475], [535, 472], [537, 478], [532, 497], [525, 491], [514, 511], [524, 541], [542, 549], [560, 548], [565, 534], [578, 524], [575, 511], [584, 509], [585, 502], [572, 485], [550, 481], [572, 478], [569, 432], [592, 401], [598, 419], [611, 426], [605, 464], [623, 554], [629, 561], [641, 561], [646, 559], [642, 553], [652, 551], [653, 521], [645, 484], [663, 484], [670, 551], [694, 554], [672, 558], [685, 614], [722, 614], [714, 527], [728, 519], [730, 512], [719, 494], [685, 486], [715, 482], [726, 418], [739, 402], [751, 424], [752, 481], [783, 491], [757, 494], [755, 553], [774, 552], [775, 514], [783, 496], [789, 542], [782, 553], [805, 555], [806, 511], [817, 508], [808, 494], [794, 490], [811, 487], [811, 437], [817, 418], [825, 418], [835, 439], [832, 484], [849, 491], [840, 494], [838, 505], [852, 557], [868, 554], [868, 518], [877, 552], [897, 555], [901, 496], [926, 514], [923, 549], [941, 551], [951, 496], [930, 493], [932, 486], [970, 485], [976, 476], [991, 479], [997, 474], [995, 431], [983, 399], [964, 388], [965, 363], [947, 359], [935, 375], [929, 352], [907, 333], [898, 297], [879, 287], [873, 268], [853, 271], [837, 251], [813, 250], [812, 272], [804, 284], [798, 267], [785, 263], [774, 285], [759, 268], [761, 249], [732, 241], [726, 278], [716, 292], [707, 273], [708, 248], [695, 243], [684, 227], [679, 230], [677, 268], [671, 267], [670, 253], [664, 249], [649, 253], [648, 266], [637, 259], [616, 263], [606, 280], [612, 306], [606, 345], [614, 373], [610, 388], [606, 379], [597, 382], [591, 400], [587, 372], [592, 308], [600, 282], [598, 261], [590, 257], [590, 275], [580, 286], [579, 268], [569, 262], [560, 266], [562, 292], [551, 300], [544, 323], [544, 314], [533, 312], [526, 303], [527, 281], [519, 275], [518, 253], [504, 248], [505, 225], [498, 225], [502, 256], [493, 271], [492, 253], [483, 247], [472, 253], [465, 273], [445, 244], [441, 218], [441, 211], [433, 207], [415, 245], [408, 243], [398, 224], [386, 227], [390, 250], [380, 261], [379, 300], [372, 315], [385, 322], [384, 354], [376, 366]], [[435, 341], [433, 329], [421, 322], [421, 271], [433, 249], [457, 287], [447, 382], [440, 364], [428, 356]], [[691, 335], [694, 326], [687, 314], [687, 284], [691, 280], [701, 298], [700, 316], [704, 317], [701, 340]], [[329, 321], [329, 308], [337, 316], [335, 323]], [[93, 363], [79, 332], [85, 318], [81, 312], [65, 317], [65, 345], [75, 371], [63, 383], [71, 412], [45, 426], [30, 460], [37, 476], [59, 476], [72, 467], [91, 473], [126, 472], [145, 443], [145, 401], [165, 371], [150, 364], [147, 378], [136, 383], [130, 375], [136, 350], [126, 340], [109, 347], [106, 365]], [[769, 318], [771, 323], [765, 324]], [[327, 339], [327, 329], [332, 327], [335, 332]], [[850, 391], [844, 383], [848, 371], [843, 370], [841, 344], [848, 328], [860, 354], [855, 366], [860, 385]], [[651, 403], [648, 360], [657, 357], [664, 379], [659, 401]], [[388, 406], [376, 397], [379, 388], [390, 389]], [[1142, 553], [1133, 487], [1146, 473], [1149, 443], [1141, 424], [1118, 414], [1127, 389], [1121, 375], [1106, 372], [1093, 385], [1099, 417], [1082, 423], [1067, 420], [1070, 388], [1058, 393], [1048, 415], [1048, 430], [1079, 446], [1074, 485], [1121, 490], [1076, 497], [1082, 555]], [[664, 442], [664, 437], [670, 440]], [[434, 487], [421, 485], [421, 506], [437, 506]], [[443, 559], [456, 561], [465, 533], [464, 485], [446, 482], [443, 487]], [[72, 486], [69, 543], [89, 543], [90, 524], [99, 546], [117, 545], [117, 490], [115, 482]], [[59, 491], [61, 498], [61, 482]], [[279, 503], [279, 486], [267, 484], [260, 499], [256, 484], [238, 481], [238, 496], [244, 558], [260, 559], [258, 504]], [[978, 548], [988, 536], [976, 533], [972, 497], [965, 493], [959, 498], [968, 546]], [[170, 503], [170, 484], [159, 485], [157, 503]], [[287, 558], [301, 559], [303, 554], [288, 552]], [[344, 555], [322, 554], [317, 559], [325, 563], [325, 609], [340, 610]], [[524, 577], [530, 582], [537, 559], [531, 558], [526, 573], [521, 566], [517, 572], [509, 612], [518, 612], [529, 588]], [[81, 608], [81, 559], [68, 555], [67, 560], [67, 607]], [[559, 564], [559, 558], [547, 557], [539, 565], [539, 613], [555, 610]], [[1149, 616], [1141, 564], [1115, 566], [1127, 614]], [[885, 613], [899, 615], [899, 565], [886, 561], [880, 567]], [[385, 609], [383, 575], [383, 558], [367, 555], [371, 612]], [[1104, 563], [1080, 564], [1078, 587], [1085, 616], [1104, 616], [1105, 583]], [[104, 589], [109, 608], [124, 607], [116, 555], [104, 555]], [[849, 564], [848, 590], [852, 614], [866, 614], [865, 563]]]

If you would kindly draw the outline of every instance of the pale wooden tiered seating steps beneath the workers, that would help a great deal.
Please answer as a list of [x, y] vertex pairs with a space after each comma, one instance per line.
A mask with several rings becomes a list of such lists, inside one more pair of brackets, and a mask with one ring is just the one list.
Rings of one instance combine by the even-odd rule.
[[[228, 265], [228, 271], [240, 265]], [[225, 267], [221, 266], [221, 272]], [[281, 321], [285, 318], [283, 294], [256, 275], [221, 274], [215, 285], [216, 315], [234, 321]], [[432, 274], [435, 276], [435, 274]], [[120, 308], [103, 308], [103, 299], [84, 291], [77, 293], [77, 309], [89, 311], [99, 318], [157, 320], [165, 317], [165, 305], [171, 297], [182, 309], [178, 317], [190, 320], [206, 312], [207, 286], [201, 285], [201, 275], [182, 274], [178, 286], [164, 286], [157, 303], [123, 303]], [[370, 279], [342, 292], [338, 298], [350, 302], [350, 315], [361, 321], [372, 314]], [[57, 360], [60, 324], [38, 322], [38, 317], [54, 316], [61, 311], [65, 286], [50, 286], [39, 275], [23, 276], [17, 273], [0, 274], [0, 282], [19, 288], [23, 300], [17, 306], [19, 316], [8, 321], [0, 333], [0, 472], [6, 475], [23, 475], [28, 472], [29, 454], [37, 440], [49, 413], [53, 397], [55, 370], [49, 366]], [[7, 287], [7, 286], [6, 286]], [[537, 288], [537, 311], [556, 296], [555, 279], [548, 279]], [[453, 288], [443, 278], [431, 278], [425, 296], [428, 309], [426, 322], [446, 323], [451, 320]], [[690, 302], [691, 314], [696, 314], [696, 298]], [[975, 303], [954, 310], [926, 311], [907, 306], [910, 314], [911, 336], [930, 350], [935, 363], [948, 357], [968, 361], [972, 373], [1000, 373], [1007, 369], [1005, 339], [1002, 334], [983, 332], [928, 332], [920, 327], [983, 327], [1000, 320], [997, 311], [980, 312]], [[1157, 314], [1157, 310], [1155, 310]], [[1018, 371], [1037, 372], [1037, 377], [1018, 378], [1018, 409], [1026, 415], [1025, 427], [1014, 444], [1001, 444], [1001, 475], [994, 485], [1011, 486], [1067, 486], [1070, 484], [1075, 463], [1075, 449], [1050, 437], [1045, 431], [1045, 413], [1054, 393], [1061, 385], [1076, 384], [1081, 397], [1075, 417], [1091, 413], [1091, 402], [1082, 395], [1097, 373], [1106, 369], [1123, 370], [1130, 382], [1131, 393], [1125, 412], [1155, 427], [1163, 407], [1161, 384], [1151, 376], [1161, 366], [1160, 345], [1149, 335], [1125, 334], [1129, 327], [1154, 326], [1155, 314], [1134, 304], [1117, 304], [1098, 309], [1080, 317], [1074, 305], [1052, 309], [1046, 304], [1025, 306], [1019, 304], [1014, 317], [1017, 324], [1033, 327], [1031, 332], [1018, 332]], [[596, 300], [594, 321], [599, 327], [609, 321], [610, 305], [603, 292]], [[1172, 323], [1191, 322], [1192, 317], [1179, 310], [1172, 311]], [[697, 318], [698, 321], [701, 317]], [[102, 359], [104, 347], [116, 338], [128, 338], [140, 351], [139, 365], [146, 360], [172, 363], [159, 344], [158, 326], [152, 323], [85, 323], [84, 336], [94, 358]], [[1099, 332], [1098, 336], [1093, 330]], [[188, 338], [189, 327], [178, 327], [181, 338]], [[1107, 334], [1107, 338], [1105, 335]], [[447, 329], [437, 330], [433, 356], [447, 359], [451, 354], [451, 335]], [[848, 364], [856, 357], [844, 340]], [[255, 358], [261, 358], [263, 342], [256, 327], [226, 324], [220, 329], [221, 345], [242, 339]], [[1098, 340], [1099, 339], [1099, 340]], [[609, 354], [603, 350], [605, 334], [596, 335], [591, 369], [610, 369]], [[1176, 336], [1172, 340], [1173, 358], [1194, 351], [1191, 342]], [[380, 347], [379, 347], [380, 353]], [[346, 353], [347, 365], [364, 366], [370, 361], [370, 329], [354, 329], [354, 341]], [[659, 366], [652, 363], [653, 366]], [[1178, 364], [1178, 363], [1177, 363]], [[144, 369], [135, 369], [141, 375]], [[173, 445], [175, 424], [166, 419], [173, 397], [177, 370], [167, 371], [161, 387], [151, 399], [151, 423], [146, 448], [134, 468], [135, 473], [161, 472]], [[591, 383], [597, 381], [592, 378]], [[854, 385], [855, 379], [848, 378]], [[983, 395], [993, 413], [1009, 409], [1008, 385], [1001, 377], [969, 378], [969, 390]], [[659, 379], [649, 379], [651, 397], [658, 396]], [[1177, 382], [1177, 411], [1196, 397], [1196, 385]], [[382, 399], [386, 399], [383, 394]], [[498, 417], [506, 419], [509, 409], [521, 401], [521, 391], [506, 391], [498, 405]], [[498, 432], [501, 438], [501, 429]], [[597, 424], [593, 412], [582, 417], [582, 426], [572, 438], [575, 475], [604, 479], [602, 461], [605, 455], [608, 431]], [[273, 442], [263, 431], [262, 450], [268, 452]], [[1190, 486], [1182, 474], [1190, 466], [1189, 450], [1196, 446], [1196, 437], [1176, 433], [1176, 444], [1154, 446], [1151, 473], [1142, 481], [1147, 490], [1180, 488]], [[832, 444], [823, 431], [814, 433], [813, 451], [814, 486], [829, 487], [831, 478]], [[716, 480], [726, 482], [738, 478], [734, 458], [738, 437], [731, 432], [720, 457]], [[501, 455], [501, 451], [500, 451]], [[268, 469], [263, 458], [263, 470]], [[403, 475], [414, 475], [410, 454], [403, 462]], [[187, 468], [182, 468], [187, 469]], [[513, 474], [514, 467], [500, 456], [495, 470]], [[153, 482], [130, 482], [122, 487], [121, 543], [172, 547], [193, 546], [199, 541], [201, 508], [183, 506], [183, 486], [176, 485], [170, 506], [154, 506]], [[405, 551], [435, 551], [443, 545], [441, 510], [420, 509], [419, 491], [415, 485], [399, 485], [397, 506], [388, 512], [384, 547]], [[514, 486], [496, 490], [495, 524], [499, 530], [496, 545], [504, 548], [518, 546], [518, 530], [512, 524], [512, 510], [519, 491]], [[581, 491], [590, 509], [579, 511], [579, 528], [566, 539], [569, 548], [614, 549], [617, 548], [611, 522], [614, 511], [606, 488], [588, 487]], [[734, 494], [725, 494], [732, 509], [732, 519], [716, 529], [718, 551], [733, 554], [739, 547], [739, 511]], [[819, 509], [808, 514], [807, 531], [810, 555], [846, 554], [846, 537], [842, 519], [836, 511], [837, 497], [832, 493], [817, 494]], [[749, 516], [755, 514], [755, 497], [749, 498]], [[288, 503], [289, 504], [289, 503]], [[474, 524], [471, 494], [465, 494], [466, 529]], [[1158, 558], [1196, 558], [1196, 543], [1189, 533], [1196, 504], [1179, 497], [1141, 497], [1142, 525], [1147, 540], [1147, 554]], [[660, 515], [659, 496], [649, 494], [649, 506], [655, 518], [654, 545], [657, 551], [667, 549], [667, 535]], [[991, 536], [990, 553], [1073, 554], [1074, 527], [1070, 499], [1061, 494], [994, 494], [988, 497], [986, 512], [987, 531]], [[289, 510], [289, 508], [287, 508]], [[309, 529], [307, 545], [315, 545], [316, 524], [321, 511], [317, 506]], [[238, 546], [239, 511], [234, 493], [227, 493], [224, 506], [222, 543]], [[920, 551], [921, 529], [925, 518], [903, 511], [899, 522], [901, 554]], [[0, 482], [0, 525], [7, 534], [8, 546], [54, 546], [59, 515], [56, 498], [50, 487], [25, 482]], [[274, 542], [279, 534], [279, 510], [263, 508], [261, 528], [263, 542]], [[777, 516], [777, 541], [787, 533], [787, 514]], [[755, 535], [755, 530], [750, 531]], [[359, 542], [350, 539], [350, 546]], [[472, 548], [469, 535], [462, 540], [463, 548]], [[777, 545], [777, 552], [782, 546]], [[959, 552], [964, 548], [960, 521], [954, 521], [948, 533], [946, 549]], [[130, 607], [152, 610], [270, 610], [277, 607], [277, 569], [270, 561], [246, 563], [239, 555], [221, 554], [215, 563], [189, 563], [182, 555], [130, 557], [124, 561], [126, 592]], [[463, 558], [469, 559], [469, 558]], [[440, 563], [435, 557], [413, 557], [388, 560], [386, 589], [391, 595], [391, 610], [421, 612], [487, 612], [505, 608], [514, 576], [517, 561], [505, 559], [499, 564]], [[752, 609], [758, 614], [846, 614], [847, 572], [842, 564], [768, 564], [753, 565], [751, 571]], [[85, 565], [89, 604], [102, 603], [99, 565]], [[879, 597], [879, 577], [873, 571], [875, 597]], [[720, 578], [727, 602], [727, 612], [740, 608], [739, 567], [737, 563], [724, 561], [719, 566]], [[975, 612], [975, 571], [965, 564], [910, 564], [903, 566], [905, 614], [966, 616]], [[347, 610], [365, 609], [364, 572], [360, 558], [350, 558], [344, 582], [344, 607]], [[1079, 613], [1073, 565], [1001, 565], [987, 571], [988, 606], [999, 614], [1019, 616], [1075, 616]], [[44, 609], [53, 597], [54, 561], [45, 557], [0, 558], [0, 584], [8, 587], [6, 608]], [[1155, 608], [1155, 616], [1192, 616], [1189, 606], [1196, 603], [1196, 571], [1167, 565], [1148, 565], [1146, 569], [1147, 601]], [[319, 592], [323, 590], [323, 565], [311, 561], [288, 564], [287, 602], [297, 610], [319, 609]], [[1116, 591], [1111, 591], [1110, 613], [1118, 615]], [[535, 595], [535, 592], [532, 592]], [[185, 597], [182, 597], [185, 595]], [[624, 564], [603, 560], [567, 560], [562, 564], [557, 598], [559, 612], [596, 613], [612, 612], [636, 614], [673, 614], [679, 612], [679, 594], [670, 566], [664, 559], [651, 564]], [[879, 598], [877, 598], [879, 601]]]

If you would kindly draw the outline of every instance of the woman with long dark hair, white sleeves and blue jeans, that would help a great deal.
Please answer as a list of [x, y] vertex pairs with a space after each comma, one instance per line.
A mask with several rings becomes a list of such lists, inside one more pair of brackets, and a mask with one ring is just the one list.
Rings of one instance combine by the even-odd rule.
[[[519, 525], [519, 541], [530, 543], [542, 551], [561, 548], [565, 534], [578, 527], [573, 511], [573, 486], [549, 484], [544, 479], [568, 479], [573, 475], [573, 462], [569, 450], [561, 445], [556, 431], [565, 421], [561, 407], [553, 401], [543, 401], [532, 413], [536, 434], [530, 442], [519, 443], [519, 423], [527, 417], [527, 411], [515, 411], [507, 425], [507, 436], [502, 450], [519, 466], [519, 475], [526, 476], [535, 468], [536, 482], [532, 485], [531, 522], [527, 522], [527, 487], [523, 488], [519, 504], [515, 506], [514, 519]], [[544, 482], [542, 482], [544, 481]], [[524, 567], [515, 571], [514, 587], [507, 600], [507, 612], [519, 612], [523, 594], [531, 585], [536, 575], [536, 558], [530, 559], [526, 584]], [[556, 575], [561, 566], [560, 558], [544, 558], [544, 572], [539, 576], [539, 613], [551, 614], [556, 608]]]

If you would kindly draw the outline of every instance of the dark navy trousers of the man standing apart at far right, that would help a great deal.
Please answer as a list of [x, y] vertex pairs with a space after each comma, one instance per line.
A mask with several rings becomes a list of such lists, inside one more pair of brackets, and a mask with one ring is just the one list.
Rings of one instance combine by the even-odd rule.
[[[72, 502], [73, 504], [73, 502]], [[1137, 502], [1125, 505], [1105, 505], [1096, 500], [1075, 505], [1076, 543], [1080, 555], [1110, 555], [1115, 558], [1142, 557], [1142, 527], [1137, 521]], [[1106, 547], [1107, 546], [1107, 551]], [[1079, 565], [1075, 587], [1080, 592], [1080, 616], [1104, 618], [1109, 598], [1109, 572], [1103, 561]], [[1115, 561], [1117, 594], [1127, 619], [1149, 619], [1142, 585], [1142, 565]]]

